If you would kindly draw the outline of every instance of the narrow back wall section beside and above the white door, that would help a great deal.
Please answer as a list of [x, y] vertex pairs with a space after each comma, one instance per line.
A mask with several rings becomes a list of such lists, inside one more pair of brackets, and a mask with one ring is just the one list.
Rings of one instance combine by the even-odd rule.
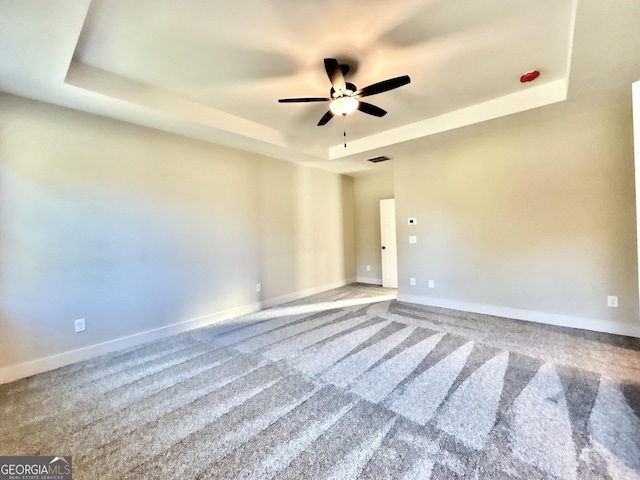
[[355, 177], [354, 195], [357, 278], [382, 285], [380, 200], [393, 198], [393, 171]]

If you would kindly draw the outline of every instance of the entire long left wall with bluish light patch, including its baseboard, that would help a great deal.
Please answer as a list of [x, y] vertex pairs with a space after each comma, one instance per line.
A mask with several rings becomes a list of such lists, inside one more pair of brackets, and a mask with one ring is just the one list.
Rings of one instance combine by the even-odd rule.
[[352, 198], [351, 178], [0, 94], [0, 377], [354, 281]]

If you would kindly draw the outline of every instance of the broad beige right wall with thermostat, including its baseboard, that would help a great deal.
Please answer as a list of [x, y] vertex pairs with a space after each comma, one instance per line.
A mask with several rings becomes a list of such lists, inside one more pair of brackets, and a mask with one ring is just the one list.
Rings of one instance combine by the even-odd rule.
[[638, 335], [631, 105], [549, 112], [394, 159], [398, 298]]

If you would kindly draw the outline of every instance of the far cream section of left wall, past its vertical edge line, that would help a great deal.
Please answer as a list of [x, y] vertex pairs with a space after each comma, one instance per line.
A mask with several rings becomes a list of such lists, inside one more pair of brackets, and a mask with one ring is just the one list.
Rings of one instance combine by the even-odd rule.
[[261, 160], [259, 172], [260, 281], [267, 304], [336, 279], [355, 281], [353, 178], [270, 158]]

